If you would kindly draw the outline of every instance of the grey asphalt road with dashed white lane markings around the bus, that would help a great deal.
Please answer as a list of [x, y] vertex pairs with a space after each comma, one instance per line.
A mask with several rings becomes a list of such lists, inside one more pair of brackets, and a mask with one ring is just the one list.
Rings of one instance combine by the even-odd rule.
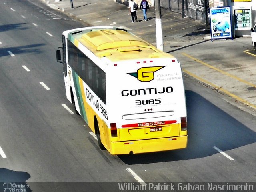
[[82, 118], [62, 106], [73, 110], [55, 58], [62, 31], [82, 24], [37, 5], [0, 2], [0, 181], [255, 182], [256, 118], [188, 77], [188, 148], [99, 150]]

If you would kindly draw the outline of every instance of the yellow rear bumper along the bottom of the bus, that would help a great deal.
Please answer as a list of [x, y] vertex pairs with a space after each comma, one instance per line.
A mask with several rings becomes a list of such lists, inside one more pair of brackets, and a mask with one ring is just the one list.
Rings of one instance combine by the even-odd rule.
[[187, 142], [187, 135], [170, 138], [112, 142], [110, 153], [112, 155], [120, 155], [182, 149], [187, 147]]

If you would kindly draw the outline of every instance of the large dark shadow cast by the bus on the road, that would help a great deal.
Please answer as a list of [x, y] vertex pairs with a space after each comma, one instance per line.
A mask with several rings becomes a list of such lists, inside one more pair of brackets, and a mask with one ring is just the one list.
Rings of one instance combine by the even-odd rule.
[[204, 158], [256, 142], [256, 133], [199, 94], [186, 91], [188, 146], [167, 152], [120, 155], [125, 164]]

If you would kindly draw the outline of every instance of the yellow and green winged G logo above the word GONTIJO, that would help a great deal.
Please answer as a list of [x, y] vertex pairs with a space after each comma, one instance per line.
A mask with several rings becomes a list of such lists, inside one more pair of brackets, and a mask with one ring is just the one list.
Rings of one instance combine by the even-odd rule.
[[165, 66], [157, 66], [157, 67], [142, 67], [134, 73], [127, 73], [131, 76], [136, 77], [141, 82], [150, 82], [154, 79], [154, 72], [164, 68]]

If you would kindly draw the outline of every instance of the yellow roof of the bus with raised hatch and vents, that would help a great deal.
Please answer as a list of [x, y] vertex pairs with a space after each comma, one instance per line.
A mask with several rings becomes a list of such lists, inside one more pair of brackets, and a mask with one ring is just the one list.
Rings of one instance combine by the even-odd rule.
[[131, 58], [173, 58], [122, 28], [89, 27], [70, 30], [68, 39], [76, 46], [80, 43], [99, 58], [107, 57], [112, 62]]

